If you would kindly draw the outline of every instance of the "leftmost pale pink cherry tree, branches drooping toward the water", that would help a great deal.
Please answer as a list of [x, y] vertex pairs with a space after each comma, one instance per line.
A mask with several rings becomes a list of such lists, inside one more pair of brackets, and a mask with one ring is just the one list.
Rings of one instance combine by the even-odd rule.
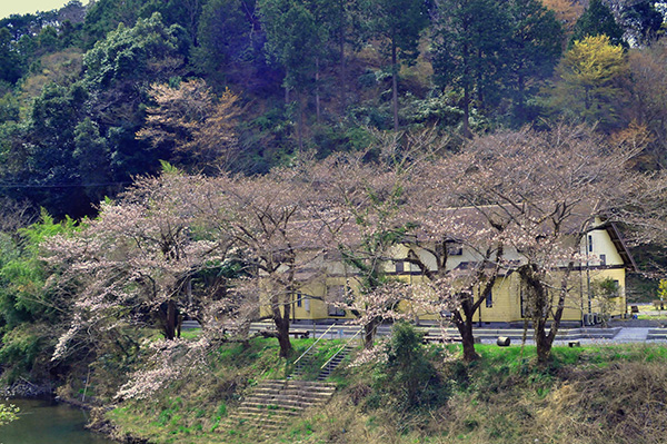
[[175, 170], [138, 179], [118, 201], [103, 201], [78, 233], [47, 243], [50, 285], [74, 300], [54, 357], [82, 334], [93, 339], [128, 326], [157, 327], [169, 341], [179, 336], [182, 315], [203, 305], [190, 290], [192, 277], [220, 264], [230, 245], [196, 224], [193, 200], [206, 198], [203, 182]]

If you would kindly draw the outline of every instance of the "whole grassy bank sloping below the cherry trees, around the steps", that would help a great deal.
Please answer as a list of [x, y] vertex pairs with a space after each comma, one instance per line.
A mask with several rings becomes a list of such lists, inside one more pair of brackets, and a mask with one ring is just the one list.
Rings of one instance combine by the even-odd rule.
[[[303, 351], [311, 339], [296, 341]], [[335, 344], [323, 342], [319, 361]], [[151, 402], [119, 406], [107, 416], [151, 443], [664, 443], [667, 431], [667, 348], [659, 345], [555, 347], [554, 363], [536, 367], [534, 347], [478, 346], [470, 365], [456, 346], [429, 346], [445, 396], [409, 410], [387, 391], [381, 364], [339, 371], [323, 408], [308, 412], [278, 435], [229, 426], [243, 392], [290, 372], [275, 339], [225, 344], [209, 368], [172, 384]], [[298, 356], [298, 354], [296, 355]]]

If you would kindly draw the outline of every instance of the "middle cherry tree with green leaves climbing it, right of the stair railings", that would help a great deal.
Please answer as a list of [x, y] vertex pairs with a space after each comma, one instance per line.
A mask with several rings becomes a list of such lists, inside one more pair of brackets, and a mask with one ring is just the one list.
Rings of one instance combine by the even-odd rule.
[[366, 348], [372, 347], [380, 323], [408, 317], [398, 303], [408, 300], [410, 292], [392, 276], [396, 264], [405, 260], [398, 247], [414, 226], [406, 190], [445, 141], [428, 130], [377, 135], [367, 150], [311, 166], [318, 196], [309, 207], [311, 217], [322, 228], [322, 245], [338, 257], [355, 287], [348, 286], [344, 300], [336, 303], [364, 326]]

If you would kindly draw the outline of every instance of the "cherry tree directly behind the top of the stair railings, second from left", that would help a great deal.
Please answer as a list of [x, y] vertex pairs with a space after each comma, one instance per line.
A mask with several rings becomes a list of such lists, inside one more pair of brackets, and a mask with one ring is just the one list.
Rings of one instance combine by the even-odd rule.
[[246, 264], [233, 292], [270, 308], [280, 356], [291, 353], [289, 325], [301, 286], [320, 273], [321, 247], [306, 215], [311, 185], [299, 167], [266, 176], [223, 176], [216, 190], [210, 223], [226, 233]]

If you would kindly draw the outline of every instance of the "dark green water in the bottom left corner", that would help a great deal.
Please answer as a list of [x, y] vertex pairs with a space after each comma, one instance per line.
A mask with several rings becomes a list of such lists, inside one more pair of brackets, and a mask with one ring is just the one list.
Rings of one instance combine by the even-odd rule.
[[14, 404], [19, 420], [0, 427], [0, 444], [118, 444], [83, 428], [87, 413], [64, 404], [36, 399], [0, 399]]

